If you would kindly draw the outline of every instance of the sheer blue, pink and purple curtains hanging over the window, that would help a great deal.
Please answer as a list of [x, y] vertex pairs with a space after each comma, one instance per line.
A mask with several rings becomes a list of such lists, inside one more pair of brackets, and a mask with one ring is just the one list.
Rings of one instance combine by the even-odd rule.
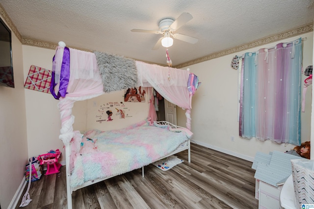
[[301, 144], [302, 40], [242, 57], [239, 135]]

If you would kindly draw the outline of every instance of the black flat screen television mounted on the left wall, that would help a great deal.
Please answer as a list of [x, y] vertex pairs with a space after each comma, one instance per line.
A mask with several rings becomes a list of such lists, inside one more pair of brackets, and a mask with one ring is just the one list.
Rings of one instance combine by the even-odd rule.
[[14, 88], [11, 30], [0, 18], [0, 86]]

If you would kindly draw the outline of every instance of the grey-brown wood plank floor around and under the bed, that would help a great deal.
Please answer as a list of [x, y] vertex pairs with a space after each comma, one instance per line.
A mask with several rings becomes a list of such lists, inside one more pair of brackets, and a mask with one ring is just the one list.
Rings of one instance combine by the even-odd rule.
[[[252, 162], [191, 144], [184, 162], [162, 171], [154, 165], [95, 183], [72, 194], [74, 209], [257, 209]], [[24, 209], [66, 209], [65, 166], [31, 183]], [[26, 185], [27, 188], [27, 185]], [[26, 188], [23, 194], [26, 192]], [[16, 209], [21, 204], [22, 197]]]

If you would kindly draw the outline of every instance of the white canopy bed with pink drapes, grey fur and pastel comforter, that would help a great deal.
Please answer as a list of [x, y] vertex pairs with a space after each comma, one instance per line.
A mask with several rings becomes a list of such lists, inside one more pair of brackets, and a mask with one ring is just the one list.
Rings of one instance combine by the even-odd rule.
[[[84, 52], [67, 48], [64, 42], [59, 42], [52, 62], [50, 91], [59, 100], [59, 138], [65, 145], [68, 208], [72, 209], [72, 192], [84, 186], [141, 167], [144, 175], [144, 165], [183, 150], [188, 150], [190, 162], [190, 137], [193, 134], [190, 131], [191, 98], [198, 85], [197, 76], [186, 70], [147, 64], [104, 52]], [[149, 87], [151, 97], [155, 88], [166, 100], [185, 109], [187, 128], [156, 122], [154, 104], [149, 102], [148, 119], [126, 129], [89, 130], [84, 134], [73, 130], [72, 107], [76, 101], [135, 86]], [[157, 142], [156, 145], [154, 142]], [[160, 145], [156, 147], [161, 143], [169, 146], [161, 150]], [[113, 149], [123, 155], [110, 153]], [[130, 159], [132, 161], [127, 161]], [[110, 163], [105, 164], [104, 161]], [[89, 170], [92, 167], [98, 170]], [[93, 176], [91, 173], [100, 175]]]

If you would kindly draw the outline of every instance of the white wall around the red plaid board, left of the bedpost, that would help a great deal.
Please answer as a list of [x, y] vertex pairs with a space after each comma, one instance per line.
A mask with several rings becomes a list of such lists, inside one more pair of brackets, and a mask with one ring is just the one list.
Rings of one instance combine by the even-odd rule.
[[[53, 55], [54, 50], [23, 45], [24, 82], [31, 65], [51, 70]], [[63, 152], [57, 104], [51, 94], [25, 89], [28, 157], [56, 149]]]

